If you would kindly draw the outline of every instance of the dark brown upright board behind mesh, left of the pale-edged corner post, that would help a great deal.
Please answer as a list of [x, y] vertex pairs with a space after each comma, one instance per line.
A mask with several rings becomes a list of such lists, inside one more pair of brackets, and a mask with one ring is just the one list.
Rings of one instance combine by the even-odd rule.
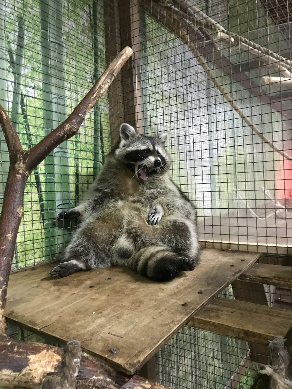
[[[118, 0], [104, 0], [104, 32], [106, 40], [106, 62], [109, 65], [121, 51]], [[108, 101], [111, 146], [113, 148], [119, 139], [120, 125], [125, 121], [121, 72], [109, 86]]]

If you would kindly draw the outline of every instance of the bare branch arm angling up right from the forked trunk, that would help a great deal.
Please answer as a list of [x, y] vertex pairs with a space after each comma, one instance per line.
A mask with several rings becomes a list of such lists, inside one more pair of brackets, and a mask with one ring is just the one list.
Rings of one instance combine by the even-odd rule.
[[54, 131], [47, 135], [39, 144], [35, 145], [28, 153], [26, 166], [28, 170], [32, 170], [46, 156], [55, 149], [60, 143], [71, 138], [77, 133], [79, 127], [83, 123], [86, 114], [95, 105], [97, 100], [106, 92], [109, 85], [127, 62], [133, 51], [130, 47], [125, 47], [120, 54], [112, 61], [104, 74], [100, 77], [97, 83], [90, 89], [83, 100], [77, 105], [72, 114], [58, 126]]

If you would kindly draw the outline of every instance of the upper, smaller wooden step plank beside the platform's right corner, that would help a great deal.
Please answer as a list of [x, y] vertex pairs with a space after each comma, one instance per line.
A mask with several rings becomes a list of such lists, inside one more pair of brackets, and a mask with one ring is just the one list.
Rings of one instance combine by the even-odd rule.
[[255, 263], [255, 265], [242, 273], [239, 279], [259, 284], [292, 288], [292, 266]]

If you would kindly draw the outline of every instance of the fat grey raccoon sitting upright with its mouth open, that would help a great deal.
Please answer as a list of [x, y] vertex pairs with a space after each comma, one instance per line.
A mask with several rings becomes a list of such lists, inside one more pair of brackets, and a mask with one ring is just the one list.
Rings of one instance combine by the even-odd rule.
[[141, 135], [129, 124], [84, 200], [59, 219], [81, 224], [60, 254], [55, 278], [110, 266], [128, 266], [155, 281], [193, 270], [200, 249], [196, 213], [169, 178], [167, 134]]

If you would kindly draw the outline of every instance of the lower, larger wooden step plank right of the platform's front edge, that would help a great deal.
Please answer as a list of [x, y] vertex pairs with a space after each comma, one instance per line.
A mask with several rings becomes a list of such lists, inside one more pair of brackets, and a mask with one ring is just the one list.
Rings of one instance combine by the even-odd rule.
[[218, 297], [202, 308], [188, 326], [266, 345], [275, 336], [287, 335], [292, 312]]

